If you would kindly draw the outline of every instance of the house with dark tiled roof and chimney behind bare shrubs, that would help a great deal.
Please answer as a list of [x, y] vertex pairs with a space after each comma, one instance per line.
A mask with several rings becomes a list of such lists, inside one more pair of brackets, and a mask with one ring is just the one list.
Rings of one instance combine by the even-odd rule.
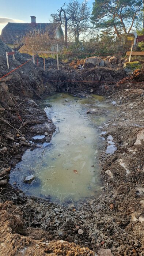
[[31, 23], [13, 23], [8, 24], [1, 31], [1, 38], [5, 44], [14, 48], [18, 39], [26, 36], [27, 33], [33, 30], [48, 31], [51, 38], [64, 40], [64, 33], [61, 25], [58, 23], [37, 23], [36, 17], [31, 16]]

